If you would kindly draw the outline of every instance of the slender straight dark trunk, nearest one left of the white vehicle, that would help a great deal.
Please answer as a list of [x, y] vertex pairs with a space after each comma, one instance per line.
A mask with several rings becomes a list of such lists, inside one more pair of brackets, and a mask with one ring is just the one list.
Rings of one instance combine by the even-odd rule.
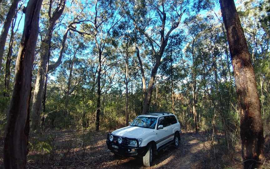
[[99, 130], [99, 114], [100, 114], [100, 76], [101, 76], [101, 52], [99, 52], [98, 56], [98, 98], [97, 98], [97, 117], [96, 117], [96, 131]]

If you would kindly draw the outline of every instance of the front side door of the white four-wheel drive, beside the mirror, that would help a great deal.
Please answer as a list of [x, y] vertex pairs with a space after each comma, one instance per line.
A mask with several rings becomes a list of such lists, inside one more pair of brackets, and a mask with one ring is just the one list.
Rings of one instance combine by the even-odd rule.
[[[159, 125], [163, 125], [163, 129], [158, 129]], [[168, 128], [167, 128], [167, 121], [165, 120], [164, 116], [160, 117], [158, 119], [158, 125], [157, 125], [156, 132], [157, 132], [156, 144], [157, 144], [157, 148], [158, 148], [168, 141], [168, 136], [170, 135], [170, 133], [168, 132]]]

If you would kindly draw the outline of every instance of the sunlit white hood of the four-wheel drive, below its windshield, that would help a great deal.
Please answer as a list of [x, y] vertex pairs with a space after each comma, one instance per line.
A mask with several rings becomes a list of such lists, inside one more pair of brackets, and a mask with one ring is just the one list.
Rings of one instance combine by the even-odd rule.
[[128, 126], [124, 128], [119, 128], [112, 132], [112, 134], [127, 138], [143, 138], [145, 135], [153, 133], [154, 129], [152, 128], [142, 128], [136, 126]]

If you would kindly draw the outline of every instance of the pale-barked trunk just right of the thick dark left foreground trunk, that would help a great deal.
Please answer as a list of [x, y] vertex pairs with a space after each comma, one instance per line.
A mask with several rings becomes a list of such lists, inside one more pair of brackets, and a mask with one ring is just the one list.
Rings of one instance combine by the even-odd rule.
[[[32, 105], [32, 130], [40, 130], [40, 113], [42, 107], [42, 98], [43, 98], [43, 86], [44, 79], [47, 74], [47, 63], [48, 63], [48, 55], [50, 50], [51, 39], [53, 35], [53, 30], [56, 21], [62, 15], [65, 8], [65, 0], [61, 0], [58, 4], [57, 8], [53, 12], [53, 16], [51, 17], [51, 12], [49, 10], [49, 27], [47, 29], [46, 35], [41, 42], [40, 46], [40, 61], [38, 65], [37, 71], [37, 79], [35, 83], [35, 90], [33, 96], [33, 105]], [[52, 3], [50, 3], [50, 9], [52, 7]]]

